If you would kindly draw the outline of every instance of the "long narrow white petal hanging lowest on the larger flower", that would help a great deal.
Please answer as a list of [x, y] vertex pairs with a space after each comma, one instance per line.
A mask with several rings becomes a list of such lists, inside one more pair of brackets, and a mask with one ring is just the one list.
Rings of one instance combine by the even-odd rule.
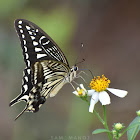
[[95, 92], [92, 95], [91, 100], [90, 100], [89, 112], [93, 113], [94, 106], [98, 102], [98, 99], [99, 99], [99, 94]]

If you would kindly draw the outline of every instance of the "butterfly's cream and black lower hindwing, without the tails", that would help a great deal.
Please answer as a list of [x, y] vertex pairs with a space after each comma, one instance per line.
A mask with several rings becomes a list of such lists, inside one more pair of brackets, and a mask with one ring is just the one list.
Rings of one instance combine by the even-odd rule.
[[67, 78], [68, 69], [66, 67], [64, 63], [54, 60], [44, 60], [32, 65], [34, 86], [28, 95], [26, 111], [37, 112], [48, 96], [53, 97], [57, 94], [67, 83], [65, 78]]

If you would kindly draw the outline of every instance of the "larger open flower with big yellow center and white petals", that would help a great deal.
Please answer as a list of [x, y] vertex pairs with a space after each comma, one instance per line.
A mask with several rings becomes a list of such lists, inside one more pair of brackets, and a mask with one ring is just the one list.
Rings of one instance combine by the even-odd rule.
[[87, 96], [91, 96], [89, 112], [93, 112], [95, 104], [100, 101], [102, 105], [110, 104], [110, 97], [107, 91], [112, 94], [123, 98], [127, 95], [127, 91], [109, 88], [110, 80], [107, 79], [104, 75], [102, 77], [97, 76], [92, 79], [90, 83], [91, 90], [87, 91]]

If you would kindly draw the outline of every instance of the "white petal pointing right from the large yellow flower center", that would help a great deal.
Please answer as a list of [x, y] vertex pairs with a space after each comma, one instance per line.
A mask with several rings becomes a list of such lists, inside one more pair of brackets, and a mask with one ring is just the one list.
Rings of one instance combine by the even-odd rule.
[[120, 90], [120, 89], [114, 89], [114, 88], [107, 88], [107, 90], [120, 98], [125, 97], [128, 93], [126, 90]]

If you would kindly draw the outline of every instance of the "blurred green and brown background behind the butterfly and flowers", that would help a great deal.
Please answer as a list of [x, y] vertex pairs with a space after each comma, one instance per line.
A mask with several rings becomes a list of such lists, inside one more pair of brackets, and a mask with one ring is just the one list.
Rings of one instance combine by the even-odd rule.
[[[77, 56], [77, 61], [84, 58], [80, 69], [90, 69], [95, 76], [105, 74], [110, 87], [128, 90], [124, 99], [110, 95], [112, 104], [107, 106], [110, 128], [115, 122], [128, 126], [140, 109], [139, 5], [140, 1], [129, 0], [0, 0], [0, 140], [108, 139], [106, 134], [91, 135], [102, 125], [88, 112], [87, 103], [72, 94], [69, 84], [38, 113], [25, 113], [14, 121], [25, 106], [24, 102], [8, 106], [20, 93], [25, 67], [14, 29], [17, 18], [30, 20], [47, 32], [71, 66]], [[102, 114], [100, 103], [95, 109]]]

